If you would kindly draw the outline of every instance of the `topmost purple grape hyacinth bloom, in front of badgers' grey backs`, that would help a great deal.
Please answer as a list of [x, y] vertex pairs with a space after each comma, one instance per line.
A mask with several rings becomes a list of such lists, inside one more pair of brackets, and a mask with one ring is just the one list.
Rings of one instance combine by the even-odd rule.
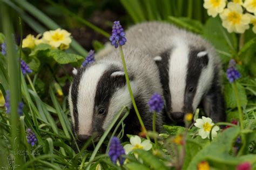
[[117, 48], [118, 45], [123, 46], [125, 44], [125, 32], [119, 21], [114, 22], [114, 25], [112, 26], [112, 34], [109, 40], [111, 41], [111, 45], [115, 48]]

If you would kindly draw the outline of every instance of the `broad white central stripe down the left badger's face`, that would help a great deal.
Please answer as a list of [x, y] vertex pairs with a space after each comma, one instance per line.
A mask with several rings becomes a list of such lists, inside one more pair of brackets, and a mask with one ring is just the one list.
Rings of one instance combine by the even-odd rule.
[[78, 88], [78, 134], [91, 135], [95, 95], [100, 77], [107, 69], [104, 63], [93, 65], [85, 70]]

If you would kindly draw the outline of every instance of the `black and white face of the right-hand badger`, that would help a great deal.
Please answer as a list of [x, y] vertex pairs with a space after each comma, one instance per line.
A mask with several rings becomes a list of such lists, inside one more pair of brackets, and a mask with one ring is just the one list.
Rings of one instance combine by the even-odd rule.
[[212, 61], [204, 48], [189, 46], [179, 40], [176, 46], [154, 60], [164, 77], [161, 83], [165, 89], [167, 115], [175, 122], [182, 122], [185, 113], [196, 110], [211, 86]]

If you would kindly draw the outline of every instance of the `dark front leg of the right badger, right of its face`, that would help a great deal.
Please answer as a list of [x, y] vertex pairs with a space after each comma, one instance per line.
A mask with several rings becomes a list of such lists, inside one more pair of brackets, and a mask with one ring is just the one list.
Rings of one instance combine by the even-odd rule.
[[213, 84], [212, 88], [204, 96], [203, 107], [205, 114], [214, 123], [226, 121], [224, 96], [219, 85]]

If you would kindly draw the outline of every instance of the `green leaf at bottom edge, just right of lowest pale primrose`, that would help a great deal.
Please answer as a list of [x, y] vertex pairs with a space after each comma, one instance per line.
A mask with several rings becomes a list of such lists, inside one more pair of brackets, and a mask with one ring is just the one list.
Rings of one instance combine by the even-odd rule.
[[151, 169], [169, 169], [164, 165], [164, 162], [162, 162], [158, 157], [153, 155], [151, 152], [147, 152], [144, 150], [134, 150], [134, 152], [138, 153], [139, 158], [142, 158], [142, 160], [150, 165]]

